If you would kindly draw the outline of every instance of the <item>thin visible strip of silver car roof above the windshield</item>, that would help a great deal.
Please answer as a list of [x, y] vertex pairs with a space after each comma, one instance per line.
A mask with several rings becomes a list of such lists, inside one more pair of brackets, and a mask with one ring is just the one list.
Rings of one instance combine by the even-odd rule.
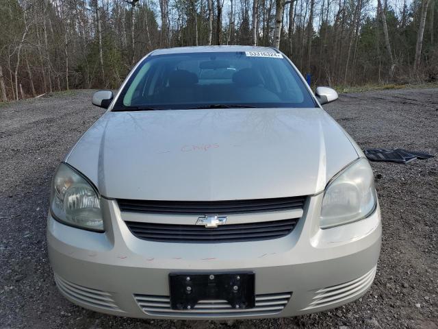
[[254, 46], [198, 46], [198, 47], [175, 47], [167, 49], [157, 49], [151, 53], [151, 56], [166, 55], [170, 53], [209, 53], [209, 52], [227, 52], [227, 51], [266, 51], [278, 53], [275, 48], [254, 47]]

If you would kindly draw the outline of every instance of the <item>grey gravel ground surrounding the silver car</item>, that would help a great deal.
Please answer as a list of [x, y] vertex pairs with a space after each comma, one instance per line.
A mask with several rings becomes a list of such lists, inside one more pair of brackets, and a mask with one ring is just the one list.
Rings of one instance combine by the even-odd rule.
[[[329, 312], [257, 321], [146, 321], [101, 315], [57, 292], [45, 227], [51, 175], [103, 110], [92, 90], [0, 106], [0, 328], [438, 328], [438, 157], [372, 163], [383, 215], [376, 280]], [[341, 95], [326, 110], [363, 148], [438, 156], [438, 89]]]

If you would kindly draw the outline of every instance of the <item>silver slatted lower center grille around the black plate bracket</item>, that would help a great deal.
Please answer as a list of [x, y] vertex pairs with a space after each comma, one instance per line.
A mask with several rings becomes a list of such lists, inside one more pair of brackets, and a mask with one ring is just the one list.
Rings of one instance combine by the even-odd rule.
[[149, 315], [167, 317], [233, 317], [257, 316], [280, 313], [285, 308], [292, 293], [270, 293], [255, 296], [255, 308], [235, 309], [226, 300], [200, 300], [193, 310], [172, 310], [168, 296], [134, 295], [134, 298]]

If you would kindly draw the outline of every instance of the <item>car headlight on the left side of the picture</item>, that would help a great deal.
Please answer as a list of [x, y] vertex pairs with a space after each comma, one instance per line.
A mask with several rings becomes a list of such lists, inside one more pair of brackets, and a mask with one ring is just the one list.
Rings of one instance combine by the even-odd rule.
[[62, 163], [53, 178], [50, 207], [53, 217], [67, 225], [103, 231], [99, 195], [67, 164]]

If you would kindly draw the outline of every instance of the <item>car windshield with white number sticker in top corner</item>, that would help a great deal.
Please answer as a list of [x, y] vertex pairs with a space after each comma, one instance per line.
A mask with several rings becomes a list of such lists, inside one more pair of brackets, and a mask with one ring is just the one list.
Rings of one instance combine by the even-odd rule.
[[281, 53], [217, 52], [149, 56], [136, 68], [113, 110], [314, 108]]

